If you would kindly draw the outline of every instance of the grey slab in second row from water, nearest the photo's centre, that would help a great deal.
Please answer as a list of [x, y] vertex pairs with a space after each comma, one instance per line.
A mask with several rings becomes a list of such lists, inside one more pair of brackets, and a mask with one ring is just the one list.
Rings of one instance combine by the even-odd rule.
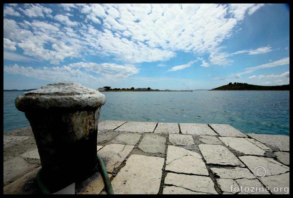
[[166, 139], [156, 134], [146, 134], [138, 147], [146, 153], [165, 153]]

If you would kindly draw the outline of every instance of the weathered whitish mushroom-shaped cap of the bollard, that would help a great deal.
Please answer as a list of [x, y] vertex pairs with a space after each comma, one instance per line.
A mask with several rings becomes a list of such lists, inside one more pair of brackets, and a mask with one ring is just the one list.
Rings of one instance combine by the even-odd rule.
[[17, 97], [15, 106], [19, 111], [28, 112], [60, 108], [87, 109], [101, 107], [105, 102], [105, 95], [97, 90], [75, 82], [58, 82], [25, 92]]

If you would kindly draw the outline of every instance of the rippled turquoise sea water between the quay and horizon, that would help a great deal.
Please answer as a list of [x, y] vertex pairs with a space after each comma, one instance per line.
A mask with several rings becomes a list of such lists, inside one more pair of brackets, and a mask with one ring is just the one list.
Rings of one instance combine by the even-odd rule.
[[[4, 91], [4, 132], [29, 126]], [[102, 92], [100, 120], [229, 124], [243, 133], [289, 135], [289, 91]]]

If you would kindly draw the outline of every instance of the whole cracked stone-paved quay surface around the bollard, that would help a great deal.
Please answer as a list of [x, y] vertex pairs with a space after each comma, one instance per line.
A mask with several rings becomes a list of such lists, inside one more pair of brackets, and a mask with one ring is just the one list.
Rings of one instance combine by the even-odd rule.
[[[243, 134], [225, 124], [99, 120], [97, 141], [114, 194], [289, 194], [286, 135]], [[3, 147], [4, 194], [41, 194], [31, 127], [4, 132]], [[107, 194], [104, 187], [97, 172], [55, 194]]]

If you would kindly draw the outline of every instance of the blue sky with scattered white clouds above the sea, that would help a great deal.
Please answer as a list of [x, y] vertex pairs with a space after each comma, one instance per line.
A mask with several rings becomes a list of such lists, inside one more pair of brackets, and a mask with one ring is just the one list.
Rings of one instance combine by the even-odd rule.
[[4, 4], [4, 89], [289, 84], [286, 4]]

